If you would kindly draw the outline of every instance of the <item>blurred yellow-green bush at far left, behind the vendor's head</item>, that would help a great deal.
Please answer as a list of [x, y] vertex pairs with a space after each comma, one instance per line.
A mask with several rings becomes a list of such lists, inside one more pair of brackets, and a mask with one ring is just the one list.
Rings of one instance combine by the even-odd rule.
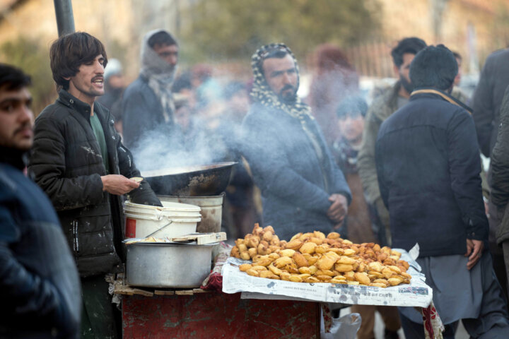
[[30, 93], [33, 96], [35, 116], [57, 97], [57, 90], [49, 68], [49, 52], [40, 39], [19, 37], [0, 46], [0, 60], [18, 66], [32, 77]]

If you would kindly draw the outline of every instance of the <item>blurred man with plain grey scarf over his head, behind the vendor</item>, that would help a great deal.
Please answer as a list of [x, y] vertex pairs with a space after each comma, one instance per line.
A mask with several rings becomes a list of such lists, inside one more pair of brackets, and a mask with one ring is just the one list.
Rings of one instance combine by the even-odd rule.
[[139, 77], [122, 99], [124, 145], [136, 150], [146, 138], [168, 137], [175, 127], [171, 85], [178, 60], [177, 41], [165, 30], [148, 32], [141, 46]]

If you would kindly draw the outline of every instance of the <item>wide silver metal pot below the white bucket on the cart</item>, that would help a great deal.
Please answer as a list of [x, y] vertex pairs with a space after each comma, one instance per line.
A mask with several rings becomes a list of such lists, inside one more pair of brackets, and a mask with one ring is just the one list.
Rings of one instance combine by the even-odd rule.
[[128, 244], [128, 285], [146, 287], [199, 287], [209, 275], [214, 244]]

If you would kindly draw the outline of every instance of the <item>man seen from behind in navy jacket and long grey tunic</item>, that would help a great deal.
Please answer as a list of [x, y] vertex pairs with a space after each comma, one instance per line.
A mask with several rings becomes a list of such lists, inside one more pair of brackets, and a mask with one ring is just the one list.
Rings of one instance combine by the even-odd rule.
[[[433, 302], [454, 338], [462, 320], [473, 338], [505, 338], [505, 299], [486, 250], [488, 220], [474, 121], [449, 95], [457, 74], [443, 45], [426, 47], [410, 65], [409, 103], [380, 126], [378, 182], [390, 213], [392, 246], [420, 246], [417, 262]], [[406, 338], [424, 338], [422, 316], [402, 307]]]

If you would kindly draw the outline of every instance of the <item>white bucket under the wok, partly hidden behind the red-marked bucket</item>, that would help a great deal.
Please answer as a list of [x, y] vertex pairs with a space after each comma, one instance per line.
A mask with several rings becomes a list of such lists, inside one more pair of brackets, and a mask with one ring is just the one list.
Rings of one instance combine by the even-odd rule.
[[167, 202], [176, 202], [199, 206], [201, 221], [198, 222], [197, 232], [221, 232], [224, 194], [220, 196], [158, 196], [158, 198], [163, 205]]

